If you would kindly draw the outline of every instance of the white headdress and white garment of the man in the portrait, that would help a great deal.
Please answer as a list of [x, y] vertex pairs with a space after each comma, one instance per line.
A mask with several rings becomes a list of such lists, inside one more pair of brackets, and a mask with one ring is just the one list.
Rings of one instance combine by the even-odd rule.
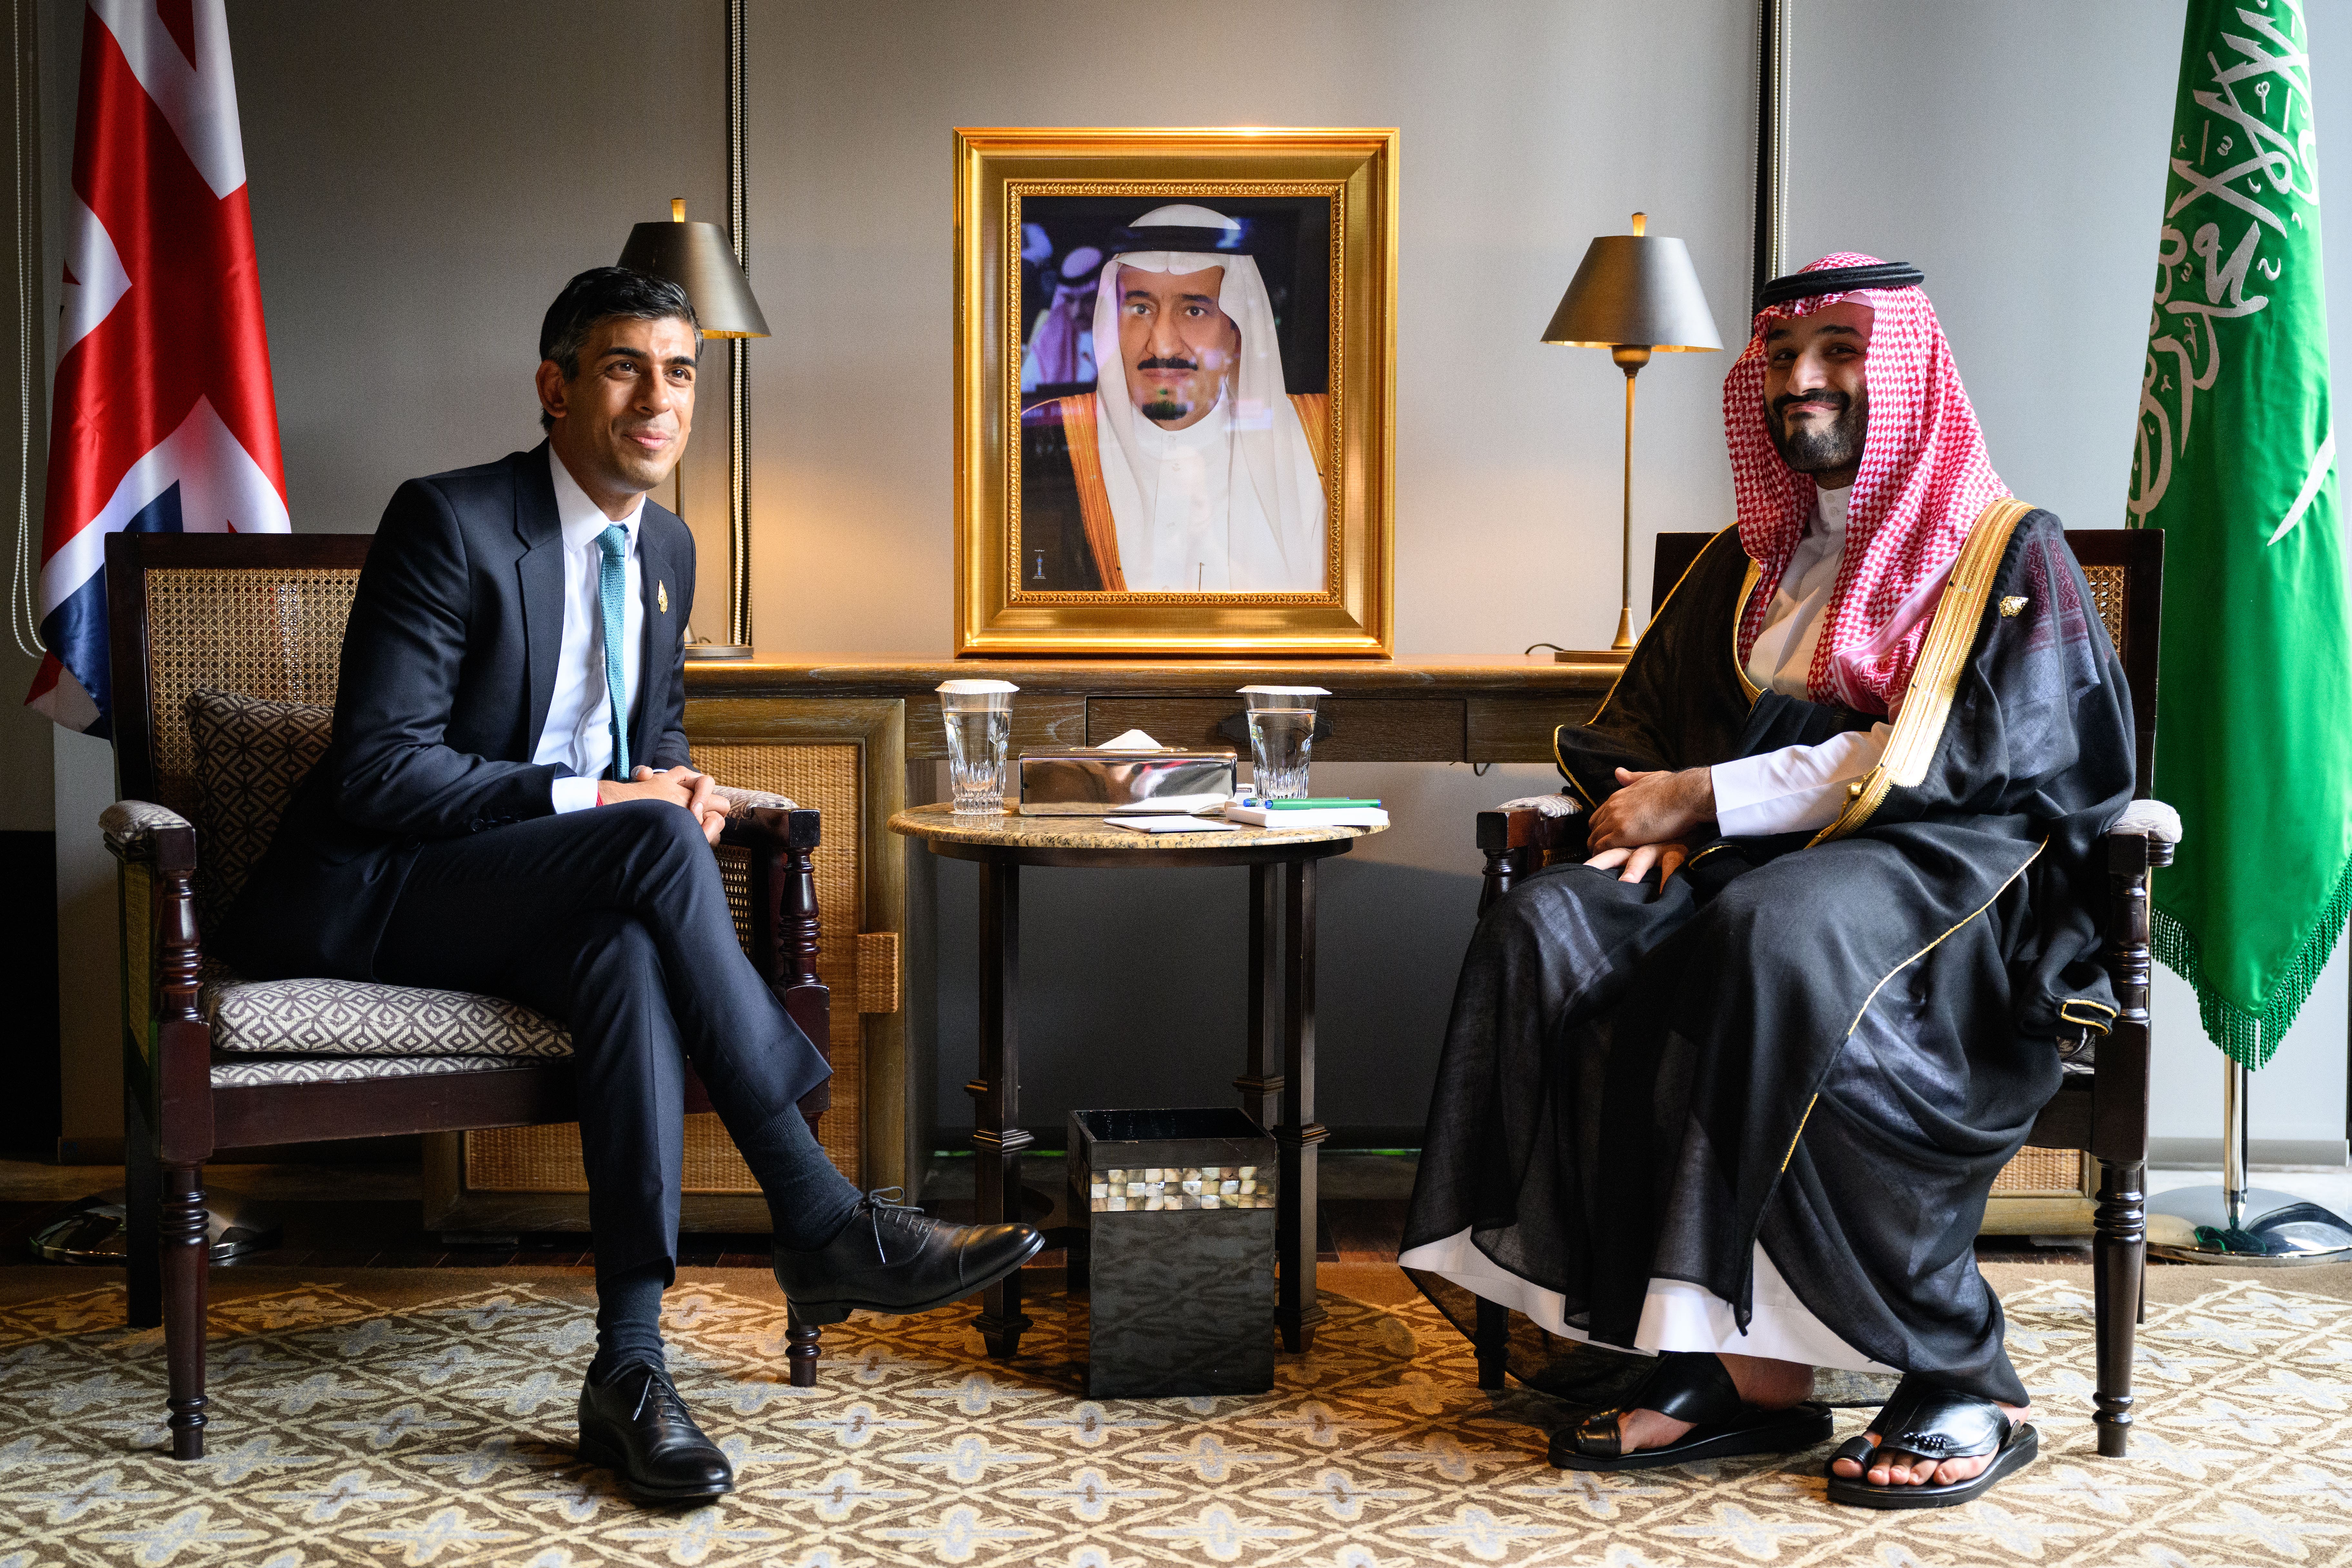
[[[1129, 228], [1216, 228], [1240, 235], [1242, 226], [1207, 207], [1174, 205], [1145, 212]], [[1240, 329], [1242, 353], [1221, 404], [1190, 430], [1162, 430], [1127, 395], [1127, 355], [1120, 348], [1122, 266], [1143, 273], [1225, 270], [1216, 303]], [[1315, 592], [1324, 585], [1329, 501], [1282, 383], [1275, 306], [1254, 256], [1228, 249], [1112, 254], [1094, 296], [1094, 364], [1096, 447], [1117, 524], [1120, 564], [1131, 590]], [[1228, 498], [1223, 550], [1211, 548], [1190, 576], [1178, 571], [1169, 529], [1160, 520], [1160, 477], [1174, 447], [1218, 468], [1211, 475], [1214, 489]], [[1200, 552], [1185, 552], [1188, 559], [1195, 555]]]

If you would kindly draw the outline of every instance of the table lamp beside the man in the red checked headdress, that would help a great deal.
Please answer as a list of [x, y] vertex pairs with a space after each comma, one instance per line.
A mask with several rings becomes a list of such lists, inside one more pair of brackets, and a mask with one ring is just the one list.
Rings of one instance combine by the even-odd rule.
[[[1632, 214], [1630, 235], [1599, 235], [1585, 249], [1569, 292], [1543, 329], [1545, 343], [1606, 348], [1625, 371], [1625, 543], [1618, 557], [1618, 635], [1609, 646], [1632, 649], [1632, 378], [1653, 353], [1722, 348], [1708, 296], [1682, 240], [1644, 235], [1646, 214]], [[1555, 658], [1571, 658], [1559, 651]]]

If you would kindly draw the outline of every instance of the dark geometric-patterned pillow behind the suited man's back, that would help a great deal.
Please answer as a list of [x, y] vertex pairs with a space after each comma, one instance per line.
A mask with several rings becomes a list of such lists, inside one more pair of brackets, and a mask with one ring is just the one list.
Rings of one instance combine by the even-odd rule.
[[266, 703], [230, 691], [188, 693], [195, 743], [195, 858], [202, 917], [219, 919], [245, 891], [294, 790], [334, 736], [334, 710]]

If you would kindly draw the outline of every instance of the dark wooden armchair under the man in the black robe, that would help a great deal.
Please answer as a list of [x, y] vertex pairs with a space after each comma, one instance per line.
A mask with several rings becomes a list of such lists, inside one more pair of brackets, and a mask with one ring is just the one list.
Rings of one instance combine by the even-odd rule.
[[[1712, 534], [1661, 534], [1651, 576], [1651, 607], [1698, 559]], [[2067, 545], [2091, 578], [2098, 618], [2114, 642], [2131, 686], [2136, 724], [2133, 806], [2107, 832], [2105, 964], [2122, 1013], [2105, 1037], [2067, 1041], [2067, 1072], [2042, 1110], [2030, 1147], [2082, 1150], [2098, 1159], [2098, 1208], [2091, 1229], [2093, 1298], [2098, 1316], [2098, 1450], [2122, 1458], [2131, 1441], [2131, 1347], [2140, 1321], [2147, 1265], [2147, 872], [2173, 863], [2178, 818], [2150, 799], [2157, 766], [2157, 632], [2164, 597], [2161, 529], [2067, 529]], [[1486, 856], [1479, 914], [1552, 856], [1583, 849], [1581, 816], [1552, 818], [1534, 809], [1479, 811], [1477, 846]], [[1477, 1305], [1479, 1387], [1503, 1387], [1510, 1309]]]

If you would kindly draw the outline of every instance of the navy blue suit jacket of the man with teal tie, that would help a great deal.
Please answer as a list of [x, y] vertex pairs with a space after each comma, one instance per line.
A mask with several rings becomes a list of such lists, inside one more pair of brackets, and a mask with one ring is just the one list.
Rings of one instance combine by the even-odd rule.
[[[684, 628], [694, 536], [637, 522], [644, 644], [630, 764], [687, 762]], [[532, 762], [564, 632], [548, 447], [409, 480], [360, 571], [334, 741], [287, 806], [216, 947], [252, 978], [374, 978], [416, 846], [555, 811], [569, 769]]]

